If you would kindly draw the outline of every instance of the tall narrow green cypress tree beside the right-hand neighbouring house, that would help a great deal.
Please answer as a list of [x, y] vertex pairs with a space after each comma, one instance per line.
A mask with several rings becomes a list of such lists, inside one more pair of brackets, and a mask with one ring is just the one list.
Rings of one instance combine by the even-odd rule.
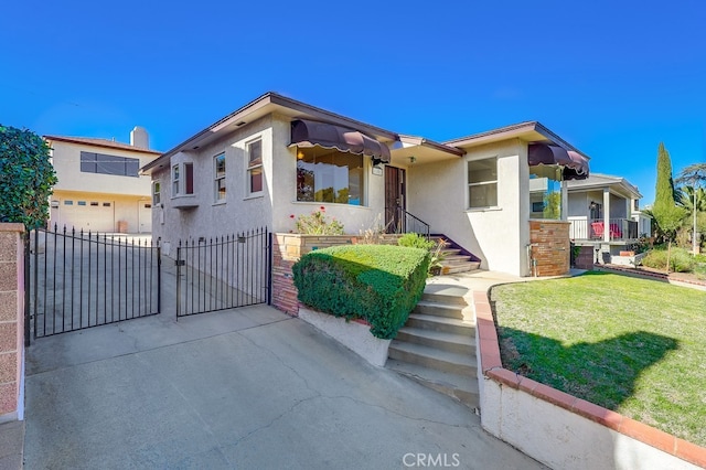
[[667, 239], [666, 271], [670, 273], [670, 255], [672, 252], [672, 241], [676, 236], [676, 231], [682, 225], [685, 217], [684, 209], [677, 207], [674, 202], [674, 181], [672, 180], [672, 159], [670, 152], [660, 142], [657, 149], [657, 182], [654, 191], [654, 206], [652, 215], [657, 222], [660, 229]]

